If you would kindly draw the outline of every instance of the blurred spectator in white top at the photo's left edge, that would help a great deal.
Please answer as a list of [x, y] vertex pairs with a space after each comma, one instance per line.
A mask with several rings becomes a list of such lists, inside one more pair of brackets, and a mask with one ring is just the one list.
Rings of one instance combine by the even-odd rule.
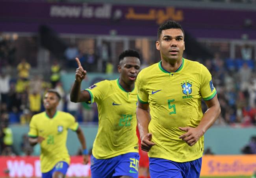
[[8, 92], [10, 90], [10, 76], [6, 75], [2, 71], [0, 71], [0, 94], [1, 94], [1, 102], [8, 102]]

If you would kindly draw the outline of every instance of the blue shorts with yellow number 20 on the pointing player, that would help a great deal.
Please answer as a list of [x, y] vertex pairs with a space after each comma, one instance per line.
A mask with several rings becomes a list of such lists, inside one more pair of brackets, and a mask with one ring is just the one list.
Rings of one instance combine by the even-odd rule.
[[138, 177], [139, 153], [121, 154], [108, 159], [96, 159], [91, 155], [91, 177], [112, 178], [116, 176]]

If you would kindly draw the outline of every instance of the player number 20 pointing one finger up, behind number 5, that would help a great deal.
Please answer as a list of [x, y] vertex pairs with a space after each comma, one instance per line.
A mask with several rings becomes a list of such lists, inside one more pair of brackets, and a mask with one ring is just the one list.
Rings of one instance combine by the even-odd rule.
[[80, 91], [86, 71], [76, 58], [76, 80], [70, 100], [96, 102], [98, 106], [98, 133], [91, 156], [92, 178], [137, 178], [138, 138], [136, 135], [137, 89], [135, 79], [139, 73], [140, 56], [137, 51], [126, 50], [119, 56], [116, 80], [104, 80]]

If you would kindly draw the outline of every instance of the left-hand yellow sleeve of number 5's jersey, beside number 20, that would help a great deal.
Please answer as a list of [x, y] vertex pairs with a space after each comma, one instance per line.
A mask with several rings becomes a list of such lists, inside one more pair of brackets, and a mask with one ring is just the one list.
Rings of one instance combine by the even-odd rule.
[[143, 84], [143, 72], [140, 72], [136, 79], [136, 86], [138, 90], [138, 100], [143, 104], [148, 103], [148, 93], [146, 92]]

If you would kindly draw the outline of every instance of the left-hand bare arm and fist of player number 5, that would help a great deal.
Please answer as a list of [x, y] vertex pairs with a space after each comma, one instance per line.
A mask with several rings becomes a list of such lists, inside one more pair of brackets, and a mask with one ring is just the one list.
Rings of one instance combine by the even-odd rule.
[[136, 116], [139, 135], [141, 138], [141, 149], [148, 152], [151, 147], [155, 145], [154, 142], [151, 142], [152, 134], [148, 133], [148, 125], [151, 119], [149, 114], [149, 105], [138, 102]]

